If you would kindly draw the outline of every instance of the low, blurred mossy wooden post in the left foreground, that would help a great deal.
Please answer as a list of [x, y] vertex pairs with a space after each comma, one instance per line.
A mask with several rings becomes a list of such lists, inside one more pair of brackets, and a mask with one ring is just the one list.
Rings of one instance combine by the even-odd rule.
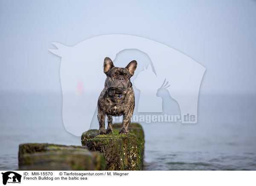
[[83, 146], [25, 143], [19, 146], [19, 170], [105, 170], [105, 158]]

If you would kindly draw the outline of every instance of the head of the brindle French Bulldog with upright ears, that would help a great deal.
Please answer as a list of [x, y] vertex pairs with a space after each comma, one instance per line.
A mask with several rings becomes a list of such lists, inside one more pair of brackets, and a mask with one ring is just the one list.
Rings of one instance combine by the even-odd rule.
[[125, 94], [132, 86], [130, 78], [134, 75], [137, 61], [131, 61], [125, 68], [115, 67], [110, 58], [104, 60], [104, 73], [107, 75], [105, 88], [113, 96]]

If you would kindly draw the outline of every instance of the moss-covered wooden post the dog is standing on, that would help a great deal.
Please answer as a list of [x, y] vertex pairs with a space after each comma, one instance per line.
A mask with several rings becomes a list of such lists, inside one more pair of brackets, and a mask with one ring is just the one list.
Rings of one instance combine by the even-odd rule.
[[144, 132], [140, 124], [130, 124], [130, 134], [118, 134], [121, 124], [113, 125], [114, 133], [97, 135], [93, 129], [82, 134], [82, 145], [91, 151], [100, 151], [107, 170], [142, 170], [144, 156]]

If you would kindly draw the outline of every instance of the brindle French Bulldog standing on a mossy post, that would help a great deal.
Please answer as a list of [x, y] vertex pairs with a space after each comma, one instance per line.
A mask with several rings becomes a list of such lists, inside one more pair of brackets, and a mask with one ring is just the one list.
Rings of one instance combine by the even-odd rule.
[[[130, 78], [137, 68], [137, 61], [131, 61], [125, 68], [115, 67], [110, 58], [104, 59], [105, 87], [98, 99], [98, 120], [101, 134], [113, 134], [112, 116], [122, 116], [119, 134], [129, 134], [129, 125], [134, 112], [135, 97]], [[105, 116], [108, 128], [105, 129]]]

